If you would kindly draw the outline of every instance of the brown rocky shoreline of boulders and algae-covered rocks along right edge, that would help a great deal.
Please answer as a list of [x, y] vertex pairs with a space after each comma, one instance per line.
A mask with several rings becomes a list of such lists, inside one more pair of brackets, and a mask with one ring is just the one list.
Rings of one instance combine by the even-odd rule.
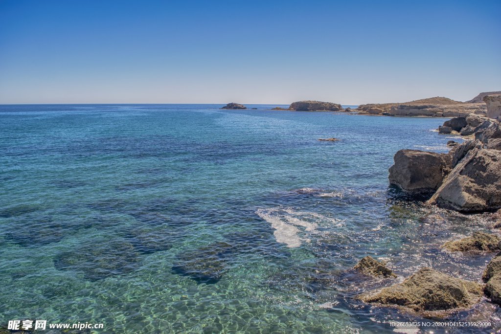
[[[501, 95], [487, 95], [487, 115], [460, 116], [446, 121], [467, 140], [444, 153], [400, 150], [390, 168], [389, 182], [405, 193], [425, 198], [426, 204], [465, 213], [493, 212], [501, 226], [501, 124], [498, 119]], [[453, 143], [450, 143], [453, 144]], [[475, 231], [469, 237], [443, 243], [449, 252], [498, 252], [487, 264], [482, 283], [467, 281], [432, 268], [418, 269], [403, 282], [363, 293], [360, 299], [377, 306], [398, 307], [424, 317], [446, 317], [470, 309], [482, 295], [501, 305], [501, 238]], [[393, 273], [375, 259], [365, 257], [354, 267], [377, 277]]]

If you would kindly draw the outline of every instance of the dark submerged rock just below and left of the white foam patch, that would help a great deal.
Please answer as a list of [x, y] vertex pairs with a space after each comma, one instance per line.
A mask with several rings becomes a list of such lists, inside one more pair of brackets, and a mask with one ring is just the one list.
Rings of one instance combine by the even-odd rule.
[[233, 248], [227, 242], [215, 242], [178, 255], [172, 271], [197, 281], [217, 283], [228, 270], [228, 259]]

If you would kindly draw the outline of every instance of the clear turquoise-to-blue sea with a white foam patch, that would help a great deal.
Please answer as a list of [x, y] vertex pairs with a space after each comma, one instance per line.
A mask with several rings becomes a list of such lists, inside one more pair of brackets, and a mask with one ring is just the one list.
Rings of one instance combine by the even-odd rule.
[[[429, 319], [358, 300], [395, 282], [350, 270], [362, 257], [389, 261], [397, 281], [422, 266], [480, 281], [492, 254], [439, 247], [487, 215], [388, 186], [397, 150], [461, 141], [434, 131], [443, 118], [275, 106], [0, 106], [0, 327], [392, 332]], [[484, 299], [449, 319], [491, 328], [414, 332], [491, 332], [499, 314]]]

